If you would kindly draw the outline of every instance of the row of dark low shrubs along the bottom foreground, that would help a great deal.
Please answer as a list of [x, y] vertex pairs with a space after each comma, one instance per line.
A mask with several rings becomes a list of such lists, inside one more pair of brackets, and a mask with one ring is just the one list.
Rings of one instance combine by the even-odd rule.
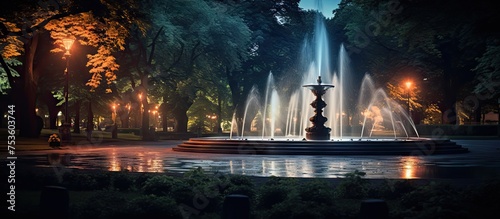
[[[201, 168], [182, 176], [130, 172], [68, 172], [59, 185], [70, 191], [91, 190], [71, 203], [72, 218], [219, 218], [224, 197], [247, 195], [252, 218], [357, 218], [359, 203], [381, 198], [391, 218], [482, 218], [500, 208], [500, 180], [470, 188], [449, 184], [385, 180], [369, 183], [355, 171], [340, 182], [208, 174]], [[32, 189], [54, 183], [43, 174]], [[45, 181], [45, 182], [44, 182]], [[134, 194], [133, 196], [127, 194]]]

